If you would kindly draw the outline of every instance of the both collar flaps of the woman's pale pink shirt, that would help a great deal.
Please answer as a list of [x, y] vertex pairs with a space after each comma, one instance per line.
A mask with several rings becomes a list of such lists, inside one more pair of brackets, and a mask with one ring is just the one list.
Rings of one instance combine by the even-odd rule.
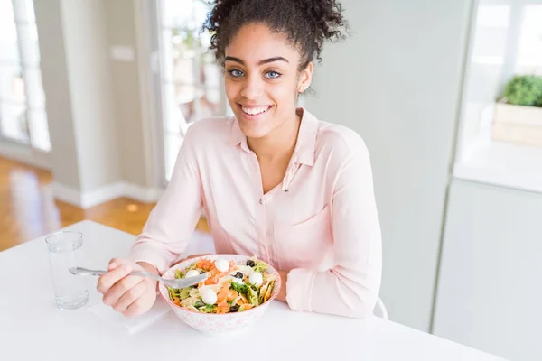
[[[308, 110], [298, 108], [297, 114], [300, 114], [301, 125], [297, 134], [297, 143], [295, 144], [292, 162], [312, 166], [314, 164], [314, 153], [316, 152], [316, 133], [318, 131], [318, 119]], [[250, 152], [247, 143], [247, 137], [241, 131], [238, 121], [235, 117], [231, 122], [231, 133], [229, 134], [229, 145], [241, 145], [241, 149]]]

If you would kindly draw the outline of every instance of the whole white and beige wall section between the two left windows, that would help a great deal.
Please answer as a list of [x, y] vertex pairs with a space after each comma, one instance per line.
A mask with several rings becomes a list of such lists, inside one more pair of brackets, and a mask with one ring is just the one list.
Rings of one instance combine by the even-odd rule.
[[[132, 0], [35, 2], [53, 191], [83, 208], [121, 196], [154, 201], [160, 194], [140, 78], [148, 54], [138, 47], [143, 30], [136, 28], [135, 10]], [[112, 46], [131, 49], [133, 58], [112, 59]]]

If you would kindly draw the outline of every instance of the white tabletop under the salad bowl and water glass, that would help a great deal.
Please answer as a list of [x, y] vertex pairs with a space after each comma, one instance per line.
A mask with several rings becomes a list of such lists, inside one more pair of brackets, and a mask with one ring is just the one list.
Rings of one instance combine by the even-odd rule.
[[[127, 255], [135, 239], [91, 221], [64, 229], [83, 233], [89, 267]], [[188, 252], [212, 246], [200, 243]], [[0, 253], [0, 360], [502, 360], [378, 317], [294, 312], [279, 301], [236, 336], [202, 336], [173, 311], [130, 335], [89, 310], [57, 310], [48, 257], [44, 236]], [[92, 290], [88, 306], [100, 300]]]

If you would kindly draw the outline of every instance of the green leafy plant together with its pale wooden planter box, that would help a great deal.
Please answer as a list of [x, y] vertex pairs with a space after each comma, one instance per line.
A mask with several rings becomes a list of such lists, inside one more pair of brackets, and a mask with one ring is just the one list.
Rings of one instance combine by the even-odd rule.
[[493, 139], [542, 146], [542, 77], [509, 81], [495, 106]]

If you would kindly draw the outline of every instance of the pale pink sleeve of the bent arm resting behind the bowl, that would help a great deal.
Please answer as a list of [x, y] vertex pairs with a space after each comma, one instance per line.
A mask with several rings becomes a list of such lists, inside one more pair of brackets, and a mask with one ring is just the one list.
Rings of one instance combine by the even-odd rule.
[[333, 187], [334, 266], [288, 273], [286, 297], [293, 310], [363, 318], [378, 300], [381, 235], [369, 152], [362, 148], [345, 158]]

